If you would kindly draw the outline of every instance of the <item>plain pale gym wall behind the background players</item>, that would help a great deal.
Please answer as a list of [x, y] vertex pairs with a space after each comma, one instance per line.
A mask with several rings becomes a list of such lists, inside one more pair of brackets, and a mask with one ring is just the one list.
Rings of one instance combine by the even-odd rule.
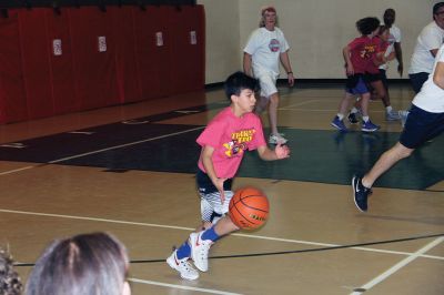
[[[259, 11], [265, 4], [278, 10], [280, 27], [291, 45], [293, 71], [302, 79], [344, 78], [342, 49], [359, 35], [355, 22], [374, 16], [382, 20], [386, 8], [396, 10], [396, 26], [403, 40], [404, 77], [416, 37], [432, 21], [436, 0], [198, 0], [206, 16], [205, 83], [222, 82], [242, 69], [242, 49], [258, 28]], [[400, 78], [396, 62], [389, 78]]]

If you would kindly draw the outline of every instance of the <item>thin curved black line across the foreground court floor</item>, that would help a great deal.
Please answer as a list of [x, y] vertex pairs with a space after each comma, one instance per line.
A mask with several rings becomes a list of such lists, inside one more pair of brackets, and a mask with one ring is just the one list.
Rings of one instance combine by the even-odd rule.
[[[291, 250], [291, 251], [279, 251], [279, 252], [262, 252], [262, 253], [249, 253], [249, 254], [235, 254], [235, 255], [219, 255], [219, 256], [211, 256], [209, 258], [210, 260], [226, 260], [226, 258], [245, 258], [245, 257], [258, 257], [258, 256], [275, 256], [275, 255], [286, 255], [286, 254], [310, 253], [310, 252], [325, 252], [325, 251], [334, 251], [334, 250], [341, 250], [341, 248], [353, 248], [353, 247], [364, 247], [364, 246], [372, 246], [372, 245], [402, 243], [402, 242], [410, 242], [410, 241], [440, 237], [440, 236], [444, 236], [444, 233], [418, 235], [418, 236], [411, 236], [411, 237], [401, 237], [401, 238], [376, 241], [376, 242], [339, 245], [339, 246], [330, 246], [330, 247]], [[160, 263], [160, 262], [163, 263], [163, 262], [165, 262], [165, 260], [161, 258], [161, 260], [133, 260], [133, 261], [130, 261], [130, 263], [132, 263], [132, 264]], [[33, 263], [16, 263], [14, 266], [34, 266], [34, 264]]]

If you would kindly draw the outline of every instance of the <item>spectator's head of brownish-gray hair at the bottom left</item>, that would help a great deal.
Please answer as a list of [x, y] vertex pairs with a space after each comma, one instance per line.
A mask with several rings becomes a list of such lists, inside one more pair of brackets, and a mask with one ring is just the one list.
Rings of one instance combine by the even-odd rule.
[[27, 295], [121, 295], [129, 260], [127, 250], [105, 233], [54, 241], [40, 256]]

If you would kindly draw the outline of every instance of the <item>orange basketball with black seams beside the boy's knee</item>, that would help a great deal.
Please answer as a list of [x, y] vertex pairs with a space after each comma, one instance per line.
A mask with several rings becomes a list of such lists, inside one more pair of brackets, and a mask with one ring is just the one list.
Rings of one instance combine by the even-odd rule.
[[231, 221], [242, 230], [255, 230], [269, 217], [270, 204], [266, 195], [255, 187], [243, 187], [235, 191], [230, 201]]

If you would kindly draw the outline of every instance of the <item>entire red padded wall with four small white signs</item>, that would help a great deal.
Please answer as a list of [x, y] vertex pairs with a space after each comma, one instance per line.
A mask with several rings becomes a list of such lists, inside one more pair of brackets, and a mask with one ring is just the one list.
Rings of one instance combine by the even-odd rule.
[[0, 18], [0, 123], [202, 90], [204, 34], [203, 6], [11, 9]]

